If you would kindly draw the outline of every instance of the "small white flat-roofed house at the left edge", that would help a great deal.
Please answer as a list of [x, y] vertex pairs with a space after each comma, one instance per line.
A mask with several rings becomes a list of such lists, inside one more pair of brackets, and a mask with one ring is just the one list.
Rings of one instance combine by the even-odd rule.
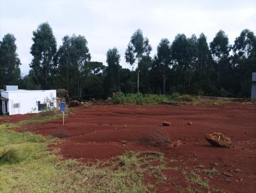
[[6, 86], [0, 90], [0, 114], [26, 114], [56, 108], [56, 90], [25, 90]]

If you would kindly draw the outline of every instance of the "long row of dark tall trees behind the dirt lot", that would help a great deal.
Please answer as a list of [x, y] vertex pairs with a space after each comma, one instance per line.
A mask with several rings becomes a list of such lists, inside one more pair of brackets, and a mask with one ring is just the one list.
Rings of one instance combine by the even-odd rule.
[[163, 38], [152, 58], [150, 40], [138, 29], [127, 41], [122, 68], [113, 47], [106, 64], [91, 61], [88, 42], [82, 35], [64, 36], [57, 47], [47, 22], [33, 31], [29, 74], [20, 77], [20, 60], [15, 36], [8, 33], [0, 42], [0, 88], [18, 84], [22, 89], [66, 89], [76, 100], [106, 98], [112, 92], [188, 93], [191, 95], [248, 97], [252, 72], [256, 72], [256, 36], [244, 29], [233, 45], [220, 30], [212, 42], [184, 34], [173, 42]]

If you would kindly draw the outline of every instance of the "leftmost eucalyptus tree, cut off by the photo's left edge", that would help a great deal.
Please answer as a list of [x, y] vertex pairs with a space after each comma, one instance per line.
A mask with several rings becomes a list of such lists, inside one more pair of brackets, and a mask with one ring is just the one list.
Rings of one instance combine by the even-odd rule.
[[20, 59], [17, 54], [15, 37], [8, 33], [0, 42], [0, 87], [17, 84], [20, 79]]

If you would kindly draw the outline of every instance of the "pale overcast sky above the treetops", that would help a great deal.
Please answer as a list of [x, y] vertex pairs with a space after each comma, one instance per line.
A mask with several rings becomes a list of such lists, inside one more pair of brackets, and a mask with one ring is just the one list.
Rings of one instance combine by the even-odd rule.
[[256, 1], [212, 0], [0, 0], [0, 38], [12, 33], [17, 39], [22, 75], [29, 71], [32, 32], [49, 22], [58, 47], [65, 35], [83, 35], [88, 41], [92, 61], [106, 64], [106, 52], [116, 47], [125, 63], [124, 52], [138, 28], [149, 38], [156, 54], [161, 38], [171, 42], [178, 33], [199, 36], [207, 42], [222, 29], [230, 43], [245, 28], [256, 33]]

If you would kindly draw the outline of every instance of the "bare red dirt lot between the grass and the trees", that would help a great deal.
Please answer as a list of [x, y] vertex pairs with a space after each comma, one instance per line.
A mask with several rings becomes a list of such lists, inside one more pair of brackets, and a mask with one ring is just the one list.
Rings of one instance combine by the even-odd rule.
[[[170, 127], [160, 127], [163, 121]], [[188, 122], [192, 124], [189, 125]], [[92, 105], [78, 107], [62, 125], [62, 120], [33, 125], [31, 132], [65, 138], [56, 145], [63, 158], [83, 162], [105, 160], [125, 151], [161, 151], [170, 167], [211, 169], [220, 174], [205, 177], [209, 185], [229, 192], [256, 192], [256, 105], [225, 106], [126, 106]], [[177, 148], [148, 146], [145, 136], [159, 130]], [[232, 140], [232, 148], [211, 146], [205, 135], [222, 132]], [[147, 142], [147, 140], [146, 140]], [[182, 171], [182, 170], [181, 170]], [[159, 191], [176, 192], [173, 184], [183, 184], [181, 171], [164, 170], [166, 184]], [[224, 174], [223, 174], [224, 173]]]

